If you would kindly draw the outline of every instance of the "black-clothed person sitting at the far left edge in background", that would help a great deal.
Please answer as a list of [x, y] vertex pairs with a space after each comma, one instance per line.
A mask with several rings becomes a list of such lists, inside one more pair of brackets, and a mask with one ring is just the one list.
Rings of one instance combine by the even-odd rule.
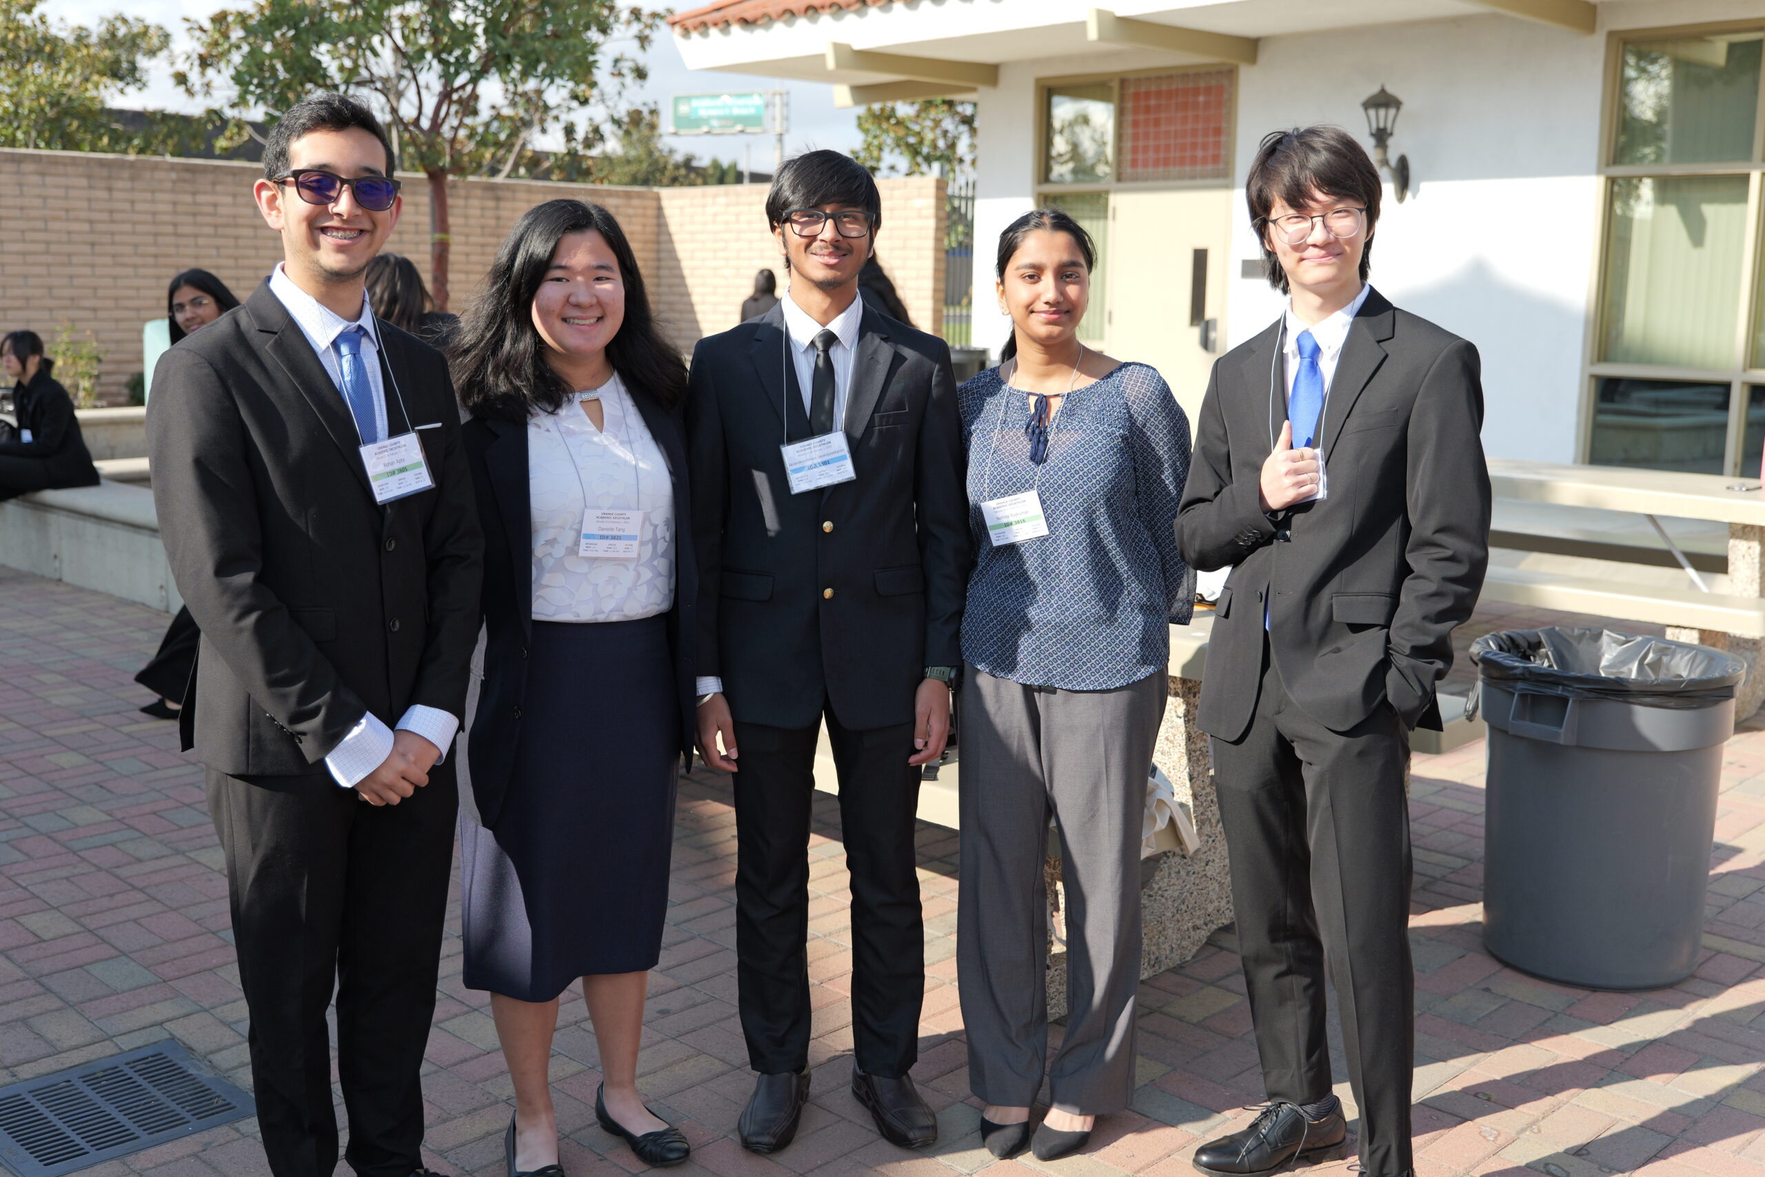
[[0, 339], [0, 360], [12, 378], [12, 418], [0, 427], [0, 501], [58, 487], [95, 487], [92, 464], [74, 399], [51, 376], [55, 360], [42, 355], [37, 332], [12, 332]]

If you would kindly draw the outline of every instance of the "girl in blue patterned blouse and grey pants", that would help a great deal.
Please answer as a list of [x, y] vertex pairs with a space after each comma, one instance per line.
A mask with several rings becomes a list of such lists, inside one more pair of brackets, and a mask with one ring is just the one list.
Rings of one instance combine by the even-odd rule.
[[962, 888], [969, 1078], [999, 1158], [1029, 1142], [1047, 1055], [1043, 852], [1066, 884], [1068, 1023], [1040, 1159], [1084, 1147], [1133, 1098], [1140, 817], [1165, 713], [1170, 625], [1195, 577], [1174, 522], [1190, 425], [1145, 364], [1078, 341], [1094, 247], [1059, 210], [999, 238], [1011, 341], [962, 385], [978, 561], [962, 619]]

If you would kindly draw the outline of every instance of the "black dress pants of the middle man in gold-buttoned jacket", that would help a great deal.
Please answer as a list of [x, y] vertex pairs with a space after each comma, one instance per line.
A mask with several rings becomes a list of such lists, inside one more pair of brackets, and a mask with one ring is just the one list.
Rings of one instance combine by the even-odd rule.
[[[808, 1066], [808, 824], [815, 727], [736, 723], [736, 958], [741, 1032], [761, 1075]], [[858, 1068], [905, 1075], [920, 1057], [925, 926], [913, 831], [913, 725], [849, 731], [828, 711], [852, 882]]]

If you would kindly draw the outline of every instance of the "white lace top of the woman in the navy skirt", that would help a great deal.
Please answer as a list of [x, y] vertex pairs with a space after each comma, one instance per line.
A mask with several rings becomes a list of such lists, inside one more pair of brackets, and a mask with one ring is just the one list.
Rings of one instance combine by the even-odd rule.
[[[604, 429], [582, 411], [593, 397]], [[618, 374], [528, 422], [528, 505], [535, 621], [635, 621], [674, 605], [674, 484]], [[637, 559], [579, 556], [586, 508], [644, 512]]]

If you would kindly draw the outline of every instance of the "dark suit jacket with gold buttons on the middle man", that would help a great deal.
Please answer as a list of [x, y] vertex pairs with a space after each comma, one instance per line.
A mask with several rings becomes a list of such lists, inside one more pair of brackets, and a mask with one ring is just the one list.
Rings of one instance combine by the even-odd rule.
[[865, 309], [844, 422], [852, 482], [791, 494], [787, 420], [807, 436], [782, 305], [699, 341], [697, 672], [724, 679], [745, 723], [812, 727], [824, 704], [858, 731], [911, 723], [925, 667], [962, 662], [973, 563], [950, 348]]

